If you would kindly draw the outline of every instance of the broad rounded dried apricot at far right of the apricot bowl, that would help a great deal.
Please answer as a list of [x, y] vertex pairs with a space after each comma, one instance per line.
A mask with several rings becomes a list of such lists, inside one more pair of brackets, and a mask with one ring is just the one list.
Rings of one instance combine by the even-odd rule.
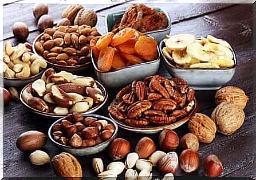
[[140, 36], [135, 43], [135, 50], [141, 56], [156, 56], [156, 48], [156, 40], [149, 36]]

